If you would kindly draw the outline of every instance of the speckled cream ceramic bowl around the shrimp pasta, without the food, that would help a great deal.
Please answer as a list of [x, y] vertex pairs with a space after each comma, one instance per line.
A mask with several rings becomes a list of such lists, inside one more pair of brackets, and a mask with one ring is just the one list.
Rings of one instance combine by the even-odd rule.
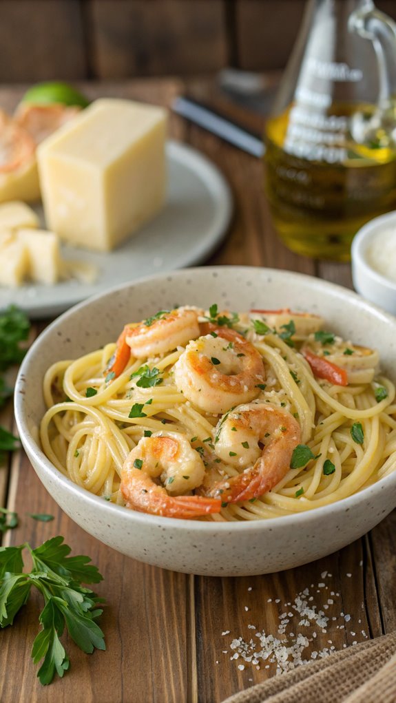
[[37, 441], [44, 414], [42, 380], [59, 359], [75, 359], [110, 340], [124, 323], [181, 304], [246, 310], [293, 307], [320, 313], [328, 328], [376, 347], [395, 378], [396, 319], [352, 292], [288, 271], [221, 267], [177, 271], [123, 285], [58, 318], [27, 354], [15, 388], [15, 415], [41, 482], [72, 520], [110, 547], [149, 564], [208, 576], [289, 569], [352, 542], [396, 505], [396, 472], [334, 505], [254, 522], [196, 522], [155, 517], [106, 503], [61, 475]]

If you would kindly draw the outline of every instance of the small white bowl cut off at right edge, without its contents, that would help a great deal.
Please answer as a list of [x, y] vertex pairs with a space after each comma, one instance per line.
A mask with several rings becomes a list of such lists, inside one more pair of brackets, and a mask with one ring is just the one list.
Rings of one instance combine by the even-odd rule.
[[396, 212], [376, 217], [359, 230], [352, 242], [352, 278], [358, 293], [396, 315], [396, 283], [373, 269], [368, 256], [373, 241], [390, 229], [396, 237]]

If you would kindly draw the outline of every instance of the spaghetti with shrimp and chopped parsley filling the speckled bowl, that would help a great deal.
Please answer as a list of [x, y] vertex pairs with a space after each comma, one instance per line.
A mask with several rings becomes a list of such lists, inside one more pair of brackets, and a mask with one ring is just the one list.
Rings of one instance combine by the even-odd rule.
[[41, 446], [77, 485], [159, 515], [261, 520], [328, 505], [395, 470], [395, 386], [379, 375], [377, 352], [325, 331], [321, 318], [160, 311], [139, 324], [139, 358], [137, 328], [46, 372]]

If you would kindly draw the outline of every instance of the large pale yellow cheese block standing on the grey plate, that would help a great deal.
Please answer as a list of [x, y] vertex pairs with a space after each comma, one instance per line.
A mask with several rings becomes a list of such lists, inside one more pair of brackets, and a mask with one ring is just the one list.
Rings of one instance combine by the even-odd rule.
[[162, 207], [162, 108], [92, 103], [37, 150], [46, 223], [68, 243], [109, 251]]

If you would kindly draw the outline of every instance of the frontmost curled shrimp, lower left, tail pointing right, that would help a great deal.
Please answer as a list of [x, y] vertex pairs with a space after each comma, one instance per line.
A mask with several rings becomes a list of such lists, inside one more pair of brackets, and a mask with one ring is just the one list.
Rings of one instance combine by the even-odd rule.
[[[156, 432], [143, 437], [128, 454], [120, 489], [127, 508], [165, 517], [200, 517], [220, 512], [219, 498], [179, 494], [200, 486], [204, 476], [203, 460], [186, 437]], [[163, 486], [153, 481], [159, 478]]]

